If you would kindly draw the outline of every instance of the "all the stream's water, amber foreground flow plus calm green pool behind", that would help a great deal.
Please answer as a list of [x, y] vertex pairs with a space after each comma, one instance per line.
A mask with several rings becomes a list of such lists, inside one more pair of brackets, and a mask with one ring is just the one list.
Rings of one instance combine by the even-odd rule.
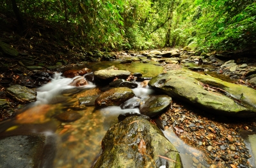
[[[92, 71], [97, 71], [115, 65], [120, 70], [124, 69], [131, 73], [140, 72], [143, 77], [163, 73], [163, 67], [153, 65], [156, 62], [150, 61], [149, 64], [119, 64], [119, 62], [95, 62], [85, 66]], [[189, 66], [198, 65], [189, 64]], [[50, 83], [36, 88], [36, 102], [19, 109], [19, 115], [15, 118], [1, 123], [0, 151], [2, 151], [0, 154], [3, 156], [6, 152], [10, 158], [8, 160], [1, 157], [0, 162], [4, 164], [0, 167], [13, 167], [17, 162], [26, 167], [92, 167], [100, 155], [102, 138], [111, 125], [118, 122], [118, 115], [127, 112], [140, 113], [138, 108], [121, 109], [119, 106], [111, 106], [97, 109], [95, 106], [79, 104], [80, 97], [101, 93], [99, 87], [90, 82], [85, 87], [69, 85], [79, 77], [81, 76], [73, 79], [64, 78], [61, 73], [55, 73]], [[138, 88], [132, 90], [140, 99], [154, 93], [150, 88], [142, 88], [140, 83]], [[64, 112], [74, 114], [74, 121], [61, 122], [60, 118], [63, 117], [61, 113]], [[163, 130], [163, 133], [180, 152], [184, 168], [193, 167], [193, 157], [200, 158], [200, 161], [205, 163], [205, 167], [209, 167], [204, 161], [202, 151], [184, 143], [172, 129]], [[16, 144], [17, 141], [20, 143]], [[244, 134], [244, 141], [250, 148], [250, 154], [256, 156], [255, 134]], [[31, 146], [31, 143], [35, 146]], [[3, 146], [9, 146], [10, 153], [4, 150]], [[22, 151], [24, 146], [27, 146], [27, 154], [35, 151], [33, 154], [28, 154], [26, 159], [19, 156], [24, 152]], [[250, 158], [249, 161], [251, 165], [256, 165], [255, 157]]]

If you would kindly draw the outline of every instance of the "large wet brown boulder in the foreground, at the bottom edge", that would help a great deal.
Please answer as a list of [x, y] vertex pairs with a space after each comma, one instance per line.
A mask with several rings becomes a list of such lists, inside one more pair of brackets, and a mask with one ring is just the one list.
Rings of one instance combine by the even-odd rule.
[[108, 130], [93, 167], [182, 167], [179, 152], [156, 125], [129, 116]]

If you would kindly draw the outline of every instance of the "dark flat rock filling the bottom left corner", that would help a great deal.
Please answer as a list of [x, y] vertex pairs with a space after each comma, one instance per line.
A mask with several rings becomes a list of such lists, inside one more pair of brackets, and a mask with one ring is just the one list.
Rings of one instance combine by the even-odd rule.
[[[1, 137], [0, 167], [43, 167], [41, 159], [46, 154], [44, 153], [44, 145], [45, 137], [43, 134]], [[51, 158], [48, 159], [49, 162], [52, 162]]]

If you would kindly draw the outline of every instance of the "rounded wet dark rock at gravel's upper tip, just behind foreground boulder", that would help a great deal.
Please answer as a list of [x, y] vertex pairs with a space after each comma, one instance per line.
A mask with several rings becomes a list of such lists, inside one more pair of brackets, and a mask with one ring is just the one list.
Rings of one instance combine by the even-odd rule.
[[140, 113], [150, 117], [160, 115], [172, 102], [172, 97], [168, 95], [154, 95], [149, 97], [143, 105], [140, 106]]

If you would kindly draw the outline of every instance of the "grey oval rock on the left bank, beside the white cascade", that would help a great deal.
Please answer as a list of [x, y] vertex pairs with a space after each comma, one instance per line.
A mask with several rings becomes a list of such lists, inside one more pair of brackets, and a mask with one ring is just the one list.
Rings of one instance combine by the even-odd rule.
[[36, 101], [36, 91], [20, 85], [12, 85], [6, 93], [19, 102], [27, 103]]

